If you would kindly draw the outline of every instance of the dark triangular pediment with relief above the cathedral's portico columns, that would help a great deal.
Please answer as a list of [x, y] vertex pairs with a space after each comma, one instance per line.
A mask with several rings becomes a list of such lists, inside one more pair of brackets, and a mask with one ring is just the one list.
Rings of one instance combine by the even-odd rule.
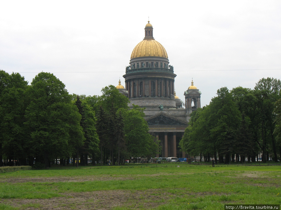
[[185, 120], [173, 117], [170, 114], [166, 114], [164, 112], [160, 112], [153, 116], [147, 117], [147, 118], [145, 118], [145, 120], [149, 126], [152, 126], [152, 125], [188, 126], [188, 122], [186, 122]]

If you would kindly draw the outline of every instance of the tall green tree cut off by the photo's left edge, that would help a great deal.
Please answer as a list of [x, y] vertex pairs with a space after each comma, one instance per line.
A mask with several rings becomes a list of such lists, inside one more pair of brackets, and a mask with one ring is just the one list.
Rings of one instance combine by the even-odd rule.
[[[23, 127], [27, 82], [19, 73], [0, 71], [0, 166], [2, 155], [19, 165], [26, 165], [26, 135]], [[6, 159], [5, 158], [5, 159]]]

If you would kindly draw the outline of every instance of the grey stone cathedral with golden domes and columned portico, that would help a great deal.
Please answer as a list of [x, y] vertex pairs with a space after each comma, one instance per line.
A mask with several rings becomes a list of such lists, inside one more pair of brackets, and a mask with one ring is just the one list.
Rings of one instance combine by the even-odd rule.
[[150, 21], [145, 26], [145, 37], [136, 45], [126, 67], [125, 88], [116, 88], [133, 104], [145, 108], [145, 120], [150, 132], [161, 142], [158, 157], [186, 157], [180, 152], [179, 142], [188, 126], [192, 111], [200, 108], [199, 89], [191, 86], [184, 93], [185, 102], [175, 93], [174, 67], [170, 65], [165, 48], [153, 38]]

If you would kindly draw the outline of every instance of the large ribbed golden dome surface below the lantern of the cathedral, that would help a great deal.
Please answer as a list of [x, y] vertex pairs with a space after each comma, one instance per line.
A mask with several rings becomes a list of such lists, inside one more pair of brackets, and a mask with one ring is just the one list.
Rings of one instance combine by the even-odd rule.
[[131, 54], [132, 58], [155, 56], [168, 58], [168, 54], [165, 48], [159, 42], [154, 39], [144, 39], [133, 49]]

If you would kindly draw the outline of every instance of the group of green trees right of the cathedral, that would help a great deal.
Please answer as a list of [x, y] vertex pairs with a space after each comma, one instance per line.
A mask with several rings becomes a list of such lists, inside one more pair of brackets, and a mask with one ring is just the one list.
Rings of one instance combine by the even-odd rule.
[[[222, 87], [209, 105], [191, 114], [183, 151], [220, 163], [280, 160], [281, 82], [262, 78], [254, 89]], [[236, 157], [236, 158], [235, 158]]]

